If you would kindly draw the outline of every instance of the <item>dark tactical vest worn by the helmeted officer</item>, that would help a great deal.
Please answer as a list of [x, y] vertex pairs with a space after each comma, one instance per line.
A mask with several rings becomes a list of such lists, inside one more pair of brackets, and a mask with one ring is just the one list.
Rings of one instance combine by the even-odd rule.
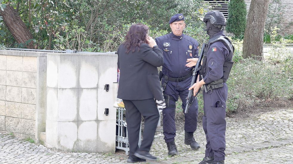
[[[204, 75], [204, 70], [205, 70], [205, 65], [206, 65], [206, 60], [207, 60], [207, 51], [209, 50], [210, 45], [215, 42], [218, 42], [218, 41], [223, 42], [224, 45], [229, 49], [229, 55], [227, 57], [227, 61], [225, 60], [224, 65], [223, 65], [223, 77], [221, 79], [218, 79], [216, 81], [211, 82], [210, 86], [211, 86], [211, 84], [215, 85], [215, 86], [211, 86], [212, 87], [211, 89], [221, 87], [221, 85], [219, 85], [221, 83], [220, 81], [222, 81], [222, 83], [227, 82], [227, 79], [229, 77], [229, 73], [230, 73], [232, 66], [234, 64], [234, 62], [232, 62], [232, 58], [233, 58], [235, 48], [232, 45], [230, 39], [227, 38], [226, 36], [222, 36], [222, 35], [213, 36], [212, 38], [210, 38], [209, 42], [206, 44], [206, 47], [204, 49], [204, 56], [202, 58], [202, 66], [201, 66], [200, 74]], [[207, 74], [207, 72], [205, 72], [205, 74]]]

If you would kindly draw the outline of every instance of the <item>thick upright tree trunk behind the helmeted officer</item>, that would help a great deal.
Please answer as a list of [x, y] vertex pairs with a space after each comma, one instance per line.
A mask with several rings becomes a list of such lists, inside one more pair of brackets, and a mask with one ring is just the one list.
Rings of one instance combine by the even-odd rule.
[[263, 59], [263, 33], [269, 0], [251, 0], [243, 40], [244, 58]]

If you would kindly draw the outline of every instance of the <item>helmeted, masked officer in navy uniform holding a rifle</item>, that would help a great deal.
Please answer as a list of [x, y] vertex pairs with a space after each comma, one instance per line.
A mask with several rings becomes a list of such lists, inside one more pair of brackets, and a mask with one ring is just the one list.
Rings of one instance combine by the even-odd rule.
[[207, 93], [203, 92], [204, 116], [202, 117], [207, 144], [204, 160], [199, 164], [224, 164], [225, 111], [228, 94], [226, 81], [233, 65], [231, 60], [234, 47], [224, 35], [223, 28], [226, 26], [226, 19], [223, 13], [210, 11], [203, 21], [206, 23], [207, 34], [210, 36], [204, 49], [200, 71], [204, 78], [189, 88], [189, 90], [194, 89], [195, 95], [202, 85], [207, 87]]

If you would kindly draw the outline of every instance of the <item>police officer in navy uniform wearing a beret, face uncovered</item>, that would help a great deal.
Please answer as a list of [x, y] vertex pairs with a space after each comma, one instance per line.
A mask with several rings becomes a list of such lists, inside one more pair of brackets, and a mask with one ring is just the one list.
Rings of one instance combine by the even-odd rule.
[[[185, 66], [187, 59], [198, 58], [198, 42], [190, 36], [183, 34], [185, 18], [182, 14], [171, 17], [170, 28], [172, 33], [156, 38], [156, 43], [163, 50], [164, 65], [162, 66], [162, 89], [166, 108], [163, 109], [164, 139], [168, 147], [168, 155], [176, 155], [177, 148], [174, 142], [176, 136], [175, 104], [180, 96], [182, 109], [186, 106], [186, 97], [191, 83], [191, 69]], [[198, 103], [197, 100], [190, 106], [188, 114], [185, 114], [185, 144], [192, 149], [199, 149], [193, 133], [197, 128]]]

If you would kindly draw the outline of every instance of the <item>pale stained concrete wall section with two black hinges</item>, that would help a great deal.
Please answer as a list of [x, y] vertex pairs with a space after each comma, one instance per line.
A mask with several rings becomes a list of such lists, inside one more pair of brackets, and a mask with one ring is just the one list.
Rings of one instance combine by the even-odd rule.
[[[114, 152], [117, 88], [113, 82], [117, 82], [115, 54], [48, 54], [46, 146]], [[105, 108], [109, 108], [107, 116]]]

